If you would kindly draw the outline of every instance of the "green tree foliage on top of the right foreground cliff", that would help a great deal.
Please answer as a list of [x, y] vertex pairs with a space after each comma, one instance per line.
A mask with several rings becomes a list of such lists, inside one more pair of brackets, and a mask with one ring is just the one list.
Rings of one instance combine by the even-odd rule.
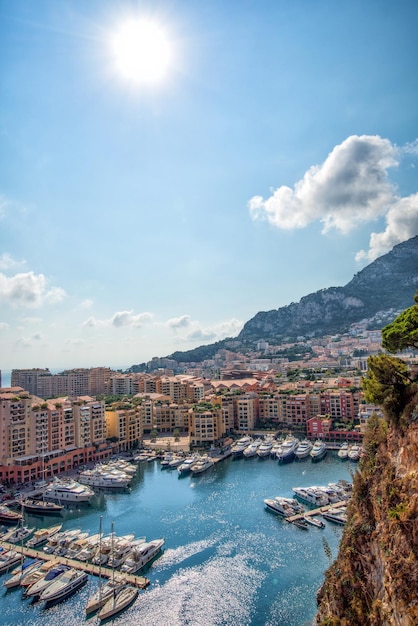
[[[403, 311], [382, 330], [382, 346], [388, 352], [406, 348], [418, 349], [418, 291], [412, 307]], [[371, 356], [368, 371], [363, 378], [363, 389], [368, 402], [380, 405], [387, 417], [398, 422], [405, 407], [418, 391], [418, 383], [411, 377], [402, 359], [387, 354]]]

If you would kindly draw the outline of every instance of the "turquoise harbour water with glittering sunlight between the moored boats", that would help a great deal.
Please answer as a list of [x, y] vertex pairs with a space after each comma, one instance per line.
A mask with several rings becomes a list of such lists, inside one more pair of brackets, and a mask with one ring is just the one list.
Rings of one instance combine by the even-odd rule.
[[[292, 496], [292, 486], [351, 480], [353, 465], [333, 454], [278, 465], [272, 459], [226, 459], [199, 476], [179, 477], [158, 463], [141, 464], [132, 490], [96, 497], [66, 511], [64, 528], [164, 537], [162, 556], [146, 572], [150, 586], [111, 623], [137, 626], [302, 626], [316, 611], [316, 592], [335, 558], [341, 528], [300, 530], [266, 510], [263, 499]], [[29, 517], [37, 527], [57, 518]], [[4, 580], [5, 576], [1, 578]], [[49, 609], [0, 590], [0, 624], [97, 624], [84, 606], [89, 583]]]

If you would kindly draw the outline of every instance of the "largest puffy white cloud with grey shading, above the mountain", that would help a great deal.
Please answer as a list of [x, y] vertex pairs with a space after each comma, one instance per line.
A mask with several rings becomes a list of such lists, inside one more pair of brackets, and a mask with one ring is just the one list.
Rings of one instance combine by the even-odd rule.
[[348, 233], [384, 215], [393, 202], [395, 188], [387, 171], [397, 165], [397, 154], [387, 139], [352, 135], [322, 165], [311, 167], [294, 189], [281, 186], [267, 200], [251, 198], [250, 213], [285, 230], [319, 220], [324, 233]]

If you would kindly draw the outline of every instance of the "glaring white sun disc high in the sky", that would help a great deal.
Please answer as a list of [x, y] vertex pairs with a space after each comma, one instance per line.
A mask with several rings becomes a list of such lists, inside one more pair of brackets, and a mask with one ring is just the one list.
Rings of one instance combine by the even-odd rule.
[[118, 73], [136, 83], [161, 81], [172, 61], [172, 48], [164, 30], [141, 19], [123, 24], [112, 39]]

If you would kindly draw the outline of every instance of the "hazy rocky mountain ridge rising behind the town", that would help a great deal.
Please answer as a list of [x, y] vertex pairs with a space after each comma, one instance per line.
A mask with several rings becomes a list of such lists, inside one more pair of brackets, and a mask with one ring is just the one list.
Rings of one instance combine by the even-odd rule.
[[[418, 236], [370, 263], [345, 287], [321, 289], [300, 302], [257, 313], [244, 325], [238, 339], [277, 343], [298, 336], [343, 333], [351, 324], [379, 314], [385, 325], [395, 317], [395, 311], [412, 306], [417, 289]], [[388, 312], [390, 319], [385, 318]]]

